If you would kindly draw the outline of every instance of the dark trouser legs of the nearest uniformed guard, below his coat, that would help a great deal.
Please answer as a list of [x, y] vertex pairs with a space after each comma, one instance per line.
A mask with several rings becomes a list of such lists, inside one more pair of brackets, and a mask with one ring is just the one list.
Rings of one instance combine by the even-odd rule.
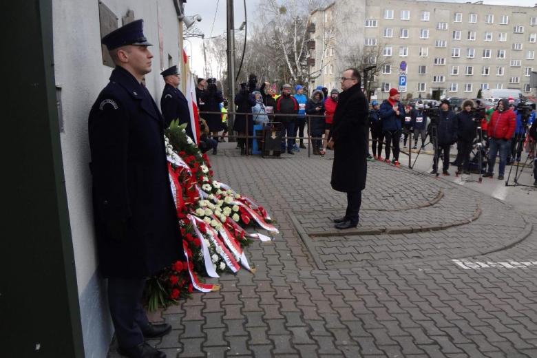
[[141, 304], [144, 278], [109, 278], [108, 306], [118, 345], [129, 348], [143, 343], [142, 328], [149, 325]]

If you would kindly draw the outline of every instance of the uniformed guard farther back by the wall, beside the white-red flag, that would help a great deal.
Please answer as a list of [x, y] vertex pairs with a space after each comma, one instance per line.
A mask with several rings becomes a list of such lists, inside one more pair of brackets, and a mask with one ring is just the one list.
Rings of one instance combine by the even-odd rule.
[[187, 123], [187, 136], [194, 140], [192, 136], [192, 127], [190, 124], [190, 110], [187, 98], [177, 88], [180, 83], [177, 66], [171, 66], [169, 69], [160, 72], [166, 85], [160, 98], [160, 109], [164, 116], [164, 127], [169, 127], [172, 120], [179, 119], [179, 123]]

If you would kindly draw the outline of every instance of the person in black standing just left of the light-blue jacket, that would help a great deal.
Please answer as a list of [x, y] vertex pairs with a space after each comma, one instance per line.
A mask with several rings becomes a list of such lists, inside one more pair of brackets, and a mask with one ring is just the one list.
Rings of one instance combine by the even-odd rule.
[[[240, 90], [238, 94], [235, 94], [235, 105], [237, 106], [237, 113], [235, 115], [235, 122], [233, 123], [233, 130], [238, 132], [237, 143], [240, 147], [240, 155], [246, 154], [246, 134], [253, 135], [253, 118], [252, 107], [255, 106], [255, 97], [249, 91], [248, 83], [244, 82], [240, 84]], [[248, 148], [251, 150], [252, 138], [249, 138]]]

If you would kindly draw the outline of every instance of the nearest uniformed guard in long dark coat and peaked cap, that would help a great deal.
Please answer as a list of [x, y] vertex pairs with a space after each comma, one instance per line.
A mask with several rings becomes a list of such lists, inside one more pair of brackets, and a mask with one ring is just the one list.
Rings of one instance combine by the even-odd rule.
[[171, 197], [164, 119], [141, 84], [151, 58], [137, 20], [102, 40], [116, 63], [89, 112], [93, 205], [101, 273], [118, 351], [127, 357], [166, 357], [144, 338], [169, 333], [152, 325], [140, 304], [145, 279], [182, 260], [182, 240]]

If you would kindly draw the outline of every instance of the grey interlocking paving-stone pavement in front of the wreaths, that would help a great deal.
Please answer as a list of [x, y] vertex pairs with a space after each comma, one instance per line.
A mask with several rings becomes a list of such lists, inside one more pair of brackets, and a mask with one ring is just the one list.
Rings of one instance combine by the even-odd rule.
[[[330, 189], [330, 155], [229, 148], [211, 157], [216, 177], [264, 205], [280, 234], [246, 250], [255, 274], [222, 275], [221, 291], [154, 315], [173, 326], [150, 342], [168, 357], [537, 357], [537, 266], [452, 261], [535, 261], [537, 218], [370, 162], [361, 227], [436, 229], [310, 237], [346, 204]], [[114, 345], [109, 357], [119, 357]]]

